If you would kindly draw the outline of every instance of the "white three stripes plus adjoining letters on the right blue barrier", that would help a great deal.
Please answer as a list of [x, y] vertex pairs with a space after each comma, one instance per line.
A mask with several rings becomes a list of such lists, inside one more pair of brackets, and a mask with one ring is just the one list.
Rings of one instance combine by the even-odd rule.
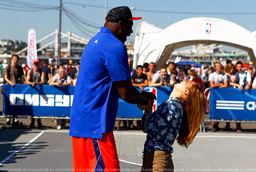
[[[244, 110], [244, 101], [216, 101], [216, 109], [232, 109], [232, 110]], [[251, 106], [250, 106], [251, 105]], [[248, 101], [246, 103], [248, 110], [256, 110], [255, 101]]]

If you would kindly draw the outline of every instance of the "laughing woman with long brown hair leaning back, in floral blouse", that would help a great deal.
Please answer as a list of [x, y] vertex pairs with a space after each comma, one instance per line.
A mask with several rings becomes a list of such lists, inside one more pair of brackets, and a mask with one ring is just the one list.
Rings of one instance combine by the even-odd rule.
[[164, 171], [174, 169], [172, 162], [175, 138], [179, 145], [188, 147], [198, 132], [207, 108], [203, 87], [183, 79], [174, 84], [173, 91], [152, 113], [150, 101], [147, 106], [137, 105], [145, 110], [142, 116], [142, 130], [147, 134], [143, 150], [142, 171]]

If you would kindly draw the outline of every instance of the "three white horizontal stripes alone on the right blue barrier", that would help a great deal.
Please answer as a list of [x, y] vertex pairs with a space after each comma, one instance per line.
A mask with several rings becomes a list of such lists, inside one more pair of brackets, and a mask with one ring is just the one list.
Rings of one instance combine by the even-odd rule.
[[244, 110], [244, 101], [216, 101], [216, 109]]

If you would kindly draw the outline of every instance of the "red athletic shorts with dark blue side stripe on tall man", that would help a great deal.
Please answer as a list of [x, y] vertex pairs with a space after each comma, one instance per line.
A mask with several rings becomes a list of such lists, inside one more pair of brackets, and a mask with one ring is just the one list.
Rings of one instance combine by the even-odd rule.
[[72, 137], [74, 171], [120, 171], [113, 132], [100, 138]]

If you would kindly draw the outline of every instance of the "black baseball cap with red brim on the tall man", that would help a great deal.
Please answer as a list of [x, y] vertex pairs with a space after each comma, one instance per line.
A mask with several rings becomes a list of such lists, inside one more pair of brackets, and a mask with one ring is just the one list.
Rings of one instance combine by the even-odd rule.
[[118, 6], [108, 11], [106, 22], [119, 22], [124, 20], [140, 20], [141, 17], [132, 17], [132, 12], [127, 6]]

